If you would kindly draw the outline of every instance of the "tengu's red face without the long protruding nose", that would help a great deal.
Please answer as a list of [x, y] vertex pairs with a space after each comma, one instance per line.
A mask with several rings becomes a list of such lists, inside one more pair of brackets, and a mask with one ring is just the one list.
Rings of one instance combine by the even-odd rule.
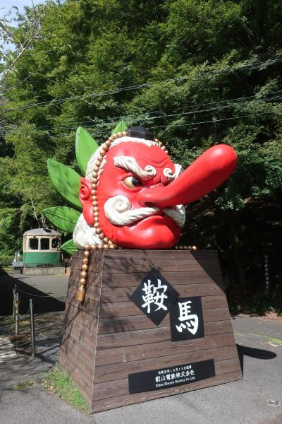
[[[123, 160], [126, 164], [120, 163]], [[144, 171], [147, 165], [152, 167], [152, 175], [146, 172], [137, 175], [131, 165], [134, 160], [140, 170]], [[165, 168], [172, 174], [175, 170], [171, 159], [157, 146], [128, 141], [109, 150], [97, 188], [99, 227], [109, 240], [119, 246], [139, 249], [165, 249], [178, 242], [180, 228], [173, 219], [154, 205], [147, 206], [146, 211], [138, 201], [143, 191], [157, 184], [168, 184]]]

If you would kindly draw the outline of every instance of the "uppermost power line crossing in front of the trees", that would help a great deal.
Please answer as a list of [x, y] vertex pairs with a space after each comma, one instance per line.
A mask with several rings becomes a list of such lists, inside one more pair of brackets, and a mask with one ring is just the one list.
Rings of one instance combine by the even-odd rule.
[[[241, 69], [259, 69], [259, 67], [262, 66], [262, 64], [271, 65], [271, 64], [274, 64], [274, 63], [280, 62], [280, 61], [282, 61], [282, 59], [269, 59], [269, 60], [266, 60], [266, 61], [255, 62], [254, 64], [236, 66], [234, 68], [228, 67], [226, 69], [219, 69], [219, 70], [214, 70], [214, 71], [202, 71], [202, 72], [204, 74], [209, 74], [209, 73], [216, 74], [216, 73], [240, 71]], [[143, 84], [139, 84], [139, 85], [135, 85], [135, 86], [114, 88], [112, 90], [104, 90], [104, 91], [100, 91], [98, 93], [73, 95], [73, 96], [69, 96], [67, 98], [48, 100], [48, 101], [45, 101], [45, 102], [30, 103], [30, 104], [23, 105], [23, 106], [20, 106], [20, 107], [11, 107], [9, 109], [4, 109], [2, 112], [9, 112], [11, 110], [23, 110], [23, 109], [28, 109], [30, 107], [36, 107], [36, 106], [41, 106], [41, 105], [50, 105], [50, 104], [55, 105], [55, 104], [58, 104], [58, 103], [66, 102], [66, 100], [70, 100], [70, 99], [94, 98], [94, 97], [99, 97], [99, 96], [102, 96], [102, 95], [112, 95], [112, 94], [122, 93], [123, 91], [138, 90], [140, 88], [148, 88], [148, 87], [152, 87], [152, 86], [157, 86], [160, 83], [171, 83], [171, 82], [176, 82], [176, 81], [185, 81], [188, 78], [189, 78], [189, 76], [180, 76], [180, 77], [176, 77], [176, 78], [168, 78], [168, 79], [165, 79], [165, 80], [162, 80], [162, 81], [157, 81], [156, 83], [143, 83]]]

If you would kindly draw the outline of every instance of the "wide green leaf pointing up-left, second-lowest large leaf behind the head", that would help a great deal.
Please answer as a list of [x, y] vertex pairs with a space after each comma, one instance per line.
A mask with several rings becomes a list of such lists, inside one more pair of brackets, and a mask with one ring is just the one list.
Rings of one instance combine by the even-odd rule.
[[78, 172], [54, 159], [47, 160], [47, 167], [49, 178], [63, 199], [75, 208], [81, 209], [78, 198], [80, 189], [80, 176]]

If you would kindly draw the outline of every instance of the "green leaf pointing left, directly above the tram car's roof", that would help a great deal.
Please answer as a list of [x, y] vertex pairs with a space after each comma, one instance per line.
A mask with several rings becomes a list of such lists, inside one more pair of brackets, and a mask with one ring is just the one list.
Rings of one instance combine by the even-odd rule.
[[80, 217], [80, 212], [68, 206], [55, 206], [43, 211], [44, 216], [59, 230], [73, 232]]

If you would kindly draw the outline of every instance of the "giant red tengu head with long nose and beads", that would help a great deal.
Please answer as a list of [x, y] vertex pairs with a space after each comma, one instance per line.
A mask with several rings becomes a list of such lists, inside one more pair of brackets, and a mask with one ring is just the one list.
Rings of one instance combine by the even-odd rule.
[[[235, 170], [235, 151], [219, 144], [180, 173], [166, 148], [148, 138], [142, 127], [128, 129], [90, 158], [80, 186], [86, 222], [78, 223], [73, 235], [78, 247], [173, 247], [185, 222], [183, 205], [212, 192]], [[83, 241], [82, 228], [88, 237]]]

